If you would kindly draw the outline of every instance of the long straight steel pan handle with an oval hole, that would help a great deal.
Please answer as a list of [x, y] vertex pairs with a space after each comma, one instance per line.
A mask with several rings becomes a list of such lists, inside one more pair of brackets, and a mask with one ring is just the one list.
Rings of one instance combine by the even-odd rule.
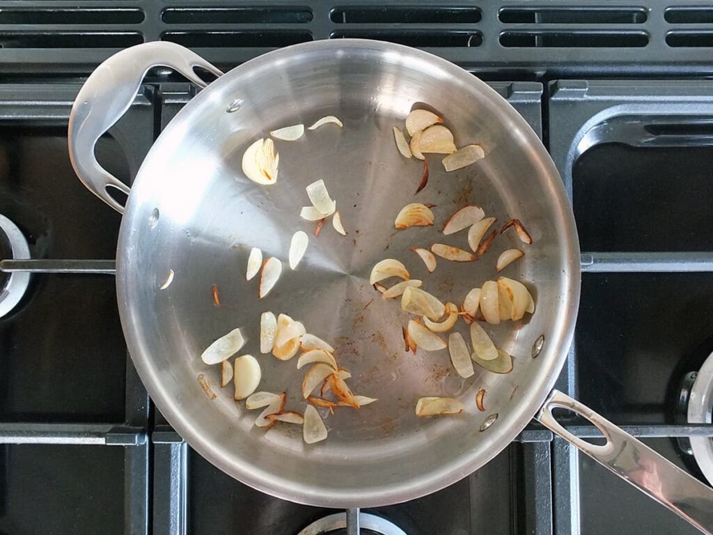
[[[588, 419], [602, 432], [607, 443], [590, 444], [568, 432], [552, 414], [553, 409], [557, 407], [576, 412]], [[586, 405], [553, 390], [535, 418], [552, 432], [578, 447], [581, 452], [667, 506], [704, 533], [713, 533], [713, 489]]]

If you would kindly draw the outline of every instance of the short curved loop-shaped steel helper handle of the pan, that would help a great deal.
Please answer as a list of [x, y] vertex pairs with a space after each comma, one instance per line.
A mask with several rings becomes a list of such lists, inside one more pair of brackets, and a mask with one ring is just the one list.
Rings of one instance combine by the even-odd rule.
[[91, 73], [69, 114], [72, 167], [88, 190], [118, 213], [123, 213], [124, 207], [109, 195], [107, 188], [116, 188], [128, 195], [129, 187], [99, 165], [94, 146], [131, 106], [148, 70], [158, 66], [178, 71], [201, 88], [207, 83], [195, 73], [195, 67], [215, 76], [222, 75], [198, 54], [175, 43], [155, 41], [131, 46], [106, 59]]

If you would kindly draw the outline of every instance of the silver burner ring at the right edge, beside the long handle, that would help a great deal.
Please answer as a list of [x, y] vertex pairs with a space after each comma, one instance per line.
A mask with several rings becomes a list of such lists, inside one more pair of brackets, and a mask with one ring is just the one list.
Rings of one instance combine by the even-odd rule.
[[[713, 412], [713, 353], [699, 370], [688, 402], [690, 424], [710, 424]], [[713, 484], [713, 439], [690, 437], [691, 449], [696, 462], [709, 483]]]

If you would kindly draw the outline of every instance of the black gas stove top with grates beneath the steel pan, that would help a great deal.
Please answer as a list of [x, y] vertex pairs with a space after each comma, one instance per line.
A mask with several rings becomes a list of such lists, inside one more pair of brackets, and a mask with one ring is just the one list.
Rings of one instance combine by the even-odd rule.
[[[583, 293], [558, 388], [705, 481], [703, 461], [679, 437], [713, 436], [712, 424], [686, 417], [691, 374], [713, 352], [713, 81], [694, 79], [712, 71], [713, 9], [10, 4], [0, 11], [0, 71], [11, 82], [0, 83], [0, 214], [31, 258], [61, 272], [30, 275], [17, 297], [0, 292], [0, 310], [17, 301], [0, 317], [0, 533], [307, 535], [344, 525], [322, 520], [344, 511], [272, 498], [195, 454], [127, 355], [111, 276], [120, 216], [74, 175], [66, 127], [82, 76], [117, 48], [159, 38], [230, 68], [276, 46], [371, 37], [433, 51], [490, 81], [545, 141], [578, 224]], [[176, 80], [151, 73], [98, 145], [122, 180], [195, 94]], [[0, 253], [10, 258], [6, 234]], [[72, 272], [82, 270], [95, 273]], [[0, 273], [0, 288], [9, 278]], [[568, 422], [597, 437], [588, 422]], [[369, 533], [697, 533], [535, 425], [457, 484], [361, 512], [374, 515], [362, 519]]]

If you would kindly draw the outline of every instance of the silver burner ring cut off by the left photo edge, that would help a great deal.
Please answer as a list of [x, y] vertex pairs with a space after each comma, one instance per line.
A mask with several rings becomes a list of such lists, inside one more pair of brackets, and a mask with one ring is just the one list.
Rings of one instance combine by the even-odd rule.
[[[4, 215], [0, 215], [0, 258], [30, 258], [30, 249], [21, 230]], [[29, 272], [0, 272], [0, 317], [20, 302], [29, 282]]]

